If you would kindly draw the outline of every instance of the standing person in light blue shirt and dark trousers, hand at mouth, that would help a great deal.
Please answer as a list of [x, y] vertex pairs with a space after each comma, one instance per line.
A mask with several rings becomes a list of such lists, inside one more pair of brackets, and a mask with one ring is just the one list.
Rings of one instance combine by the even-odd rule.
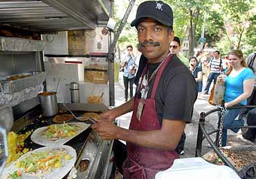
[[134, 85], [134, 76], [136, 73], [136, 65], [134, 63], [134, 54], [132, 53], [132, 46], [127, 45], [127, 56], [123, 59], [121, 63], [121, 67], [124, 68], [124, 72], [122, 74], [125, 85], [125, 101], [128, 99], [128, 87], [130, 88], [130, 98], [133, 95], [133, 85]]

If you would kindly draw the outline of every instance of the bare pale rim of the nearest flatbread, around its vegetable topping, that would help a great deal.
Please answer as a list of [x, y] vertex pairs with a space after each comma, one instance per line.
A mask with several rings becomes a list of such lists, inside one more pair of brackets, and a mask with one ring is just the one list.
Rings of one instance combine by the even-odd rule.
[[31, 156], [31, 154], [38, 152], [38, 151], [47, 151], [47, 150], [55, 150], [55, 149], [66, 149], [66, 154], [70, 155], [72, 158], [71, 158], [71, 160], [62, 160], [62, 167], [51, 171], [51, 173], [45, 173], [43, 176], [41, 176], [41, 178], [42, 179], [63, 178], [64, 176], [66, 176], [68, 171], [70, 171], [72, 169], [72, 167], [75, 165], [75, 161], [77, 158], [75, 149], [73, 149], [72, 147], [70, 147], [68, 145], [61, 145], [59, 147], [41, 147], [39, 149], [29, 151], [27, 154], [24, 154], [18, 160], [16, 160], [15, 162], [12, 162], [8, 167], [6, 167], [3, 170], [3, 175], [1, 176], [1, 178], [6, 179], [14, 171], [21, 170], [20, 168], [16, 167], [16, 163], [19, 162], [19, 160], [23, 160], [24, 158], [29, 157], [29, 156]]

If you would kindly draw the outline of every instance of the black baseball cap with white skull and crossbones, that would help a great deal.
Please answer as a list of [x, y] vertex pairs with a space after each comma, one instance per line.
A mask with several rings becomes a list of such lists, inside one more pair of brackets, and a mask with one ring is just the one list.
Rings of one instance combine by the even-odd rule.
[[137, 26], [147, 17], [155, 19], [167, 27], [173, 27], [172, 8], [162, 1], [145, 1], [140, 3], [136, 13], [136, 19], [131, 22], [131, 27]]

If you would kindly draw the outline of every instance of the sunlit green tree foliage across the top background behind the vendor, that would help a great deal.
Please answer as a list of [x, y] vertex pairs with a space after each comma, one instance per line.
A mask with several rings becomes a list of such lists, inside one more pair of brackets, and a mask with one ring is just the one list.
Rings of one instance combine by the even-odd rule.
[[[129, 5], [128, 0], [116, 1], [124, 1], [125, 3], [122, 6], [126, 8]], [[136, 0], [135, 6], [143, 1], [145, 0]], [[174, 32], [181, 40], [188, 38], [189, 21], [191, 19], [192, 28], [195, 28], [193, 32], [194, 45], [196, 47], [199, 44], [203, 16], [206, 14], [205, 38], [210, 46], [216, 46], [223, 53], [227, 53], [232, 48], [240, 48], [246, 54], [255, 50], [256, 0], [162, 1], [170, 4], [174, 11]], [[191, 15], [189, 10], [192, 12]], [[121, 20], [119, 19], [119, 21]], [[232, 32], [230, 32], [230, 29]], [[124, 49], [127, 43], [134, 46], [138, 43], [136, 29], [131, 28], [129, 23], [125, 25], [118, 43], [121, 49]]]

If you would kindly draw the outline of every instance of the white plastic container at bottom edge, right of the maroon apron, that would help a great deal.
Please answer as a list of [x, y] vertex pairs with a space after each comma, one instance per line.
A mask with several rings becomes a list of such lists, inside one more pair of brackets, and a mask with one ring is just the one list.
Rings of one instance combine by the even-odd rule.
[[214, 165], [201, 157], [174, 160], [174, 165], [156, 173], [156, 179], [241, 179], [235, 171], [225, 165]]

